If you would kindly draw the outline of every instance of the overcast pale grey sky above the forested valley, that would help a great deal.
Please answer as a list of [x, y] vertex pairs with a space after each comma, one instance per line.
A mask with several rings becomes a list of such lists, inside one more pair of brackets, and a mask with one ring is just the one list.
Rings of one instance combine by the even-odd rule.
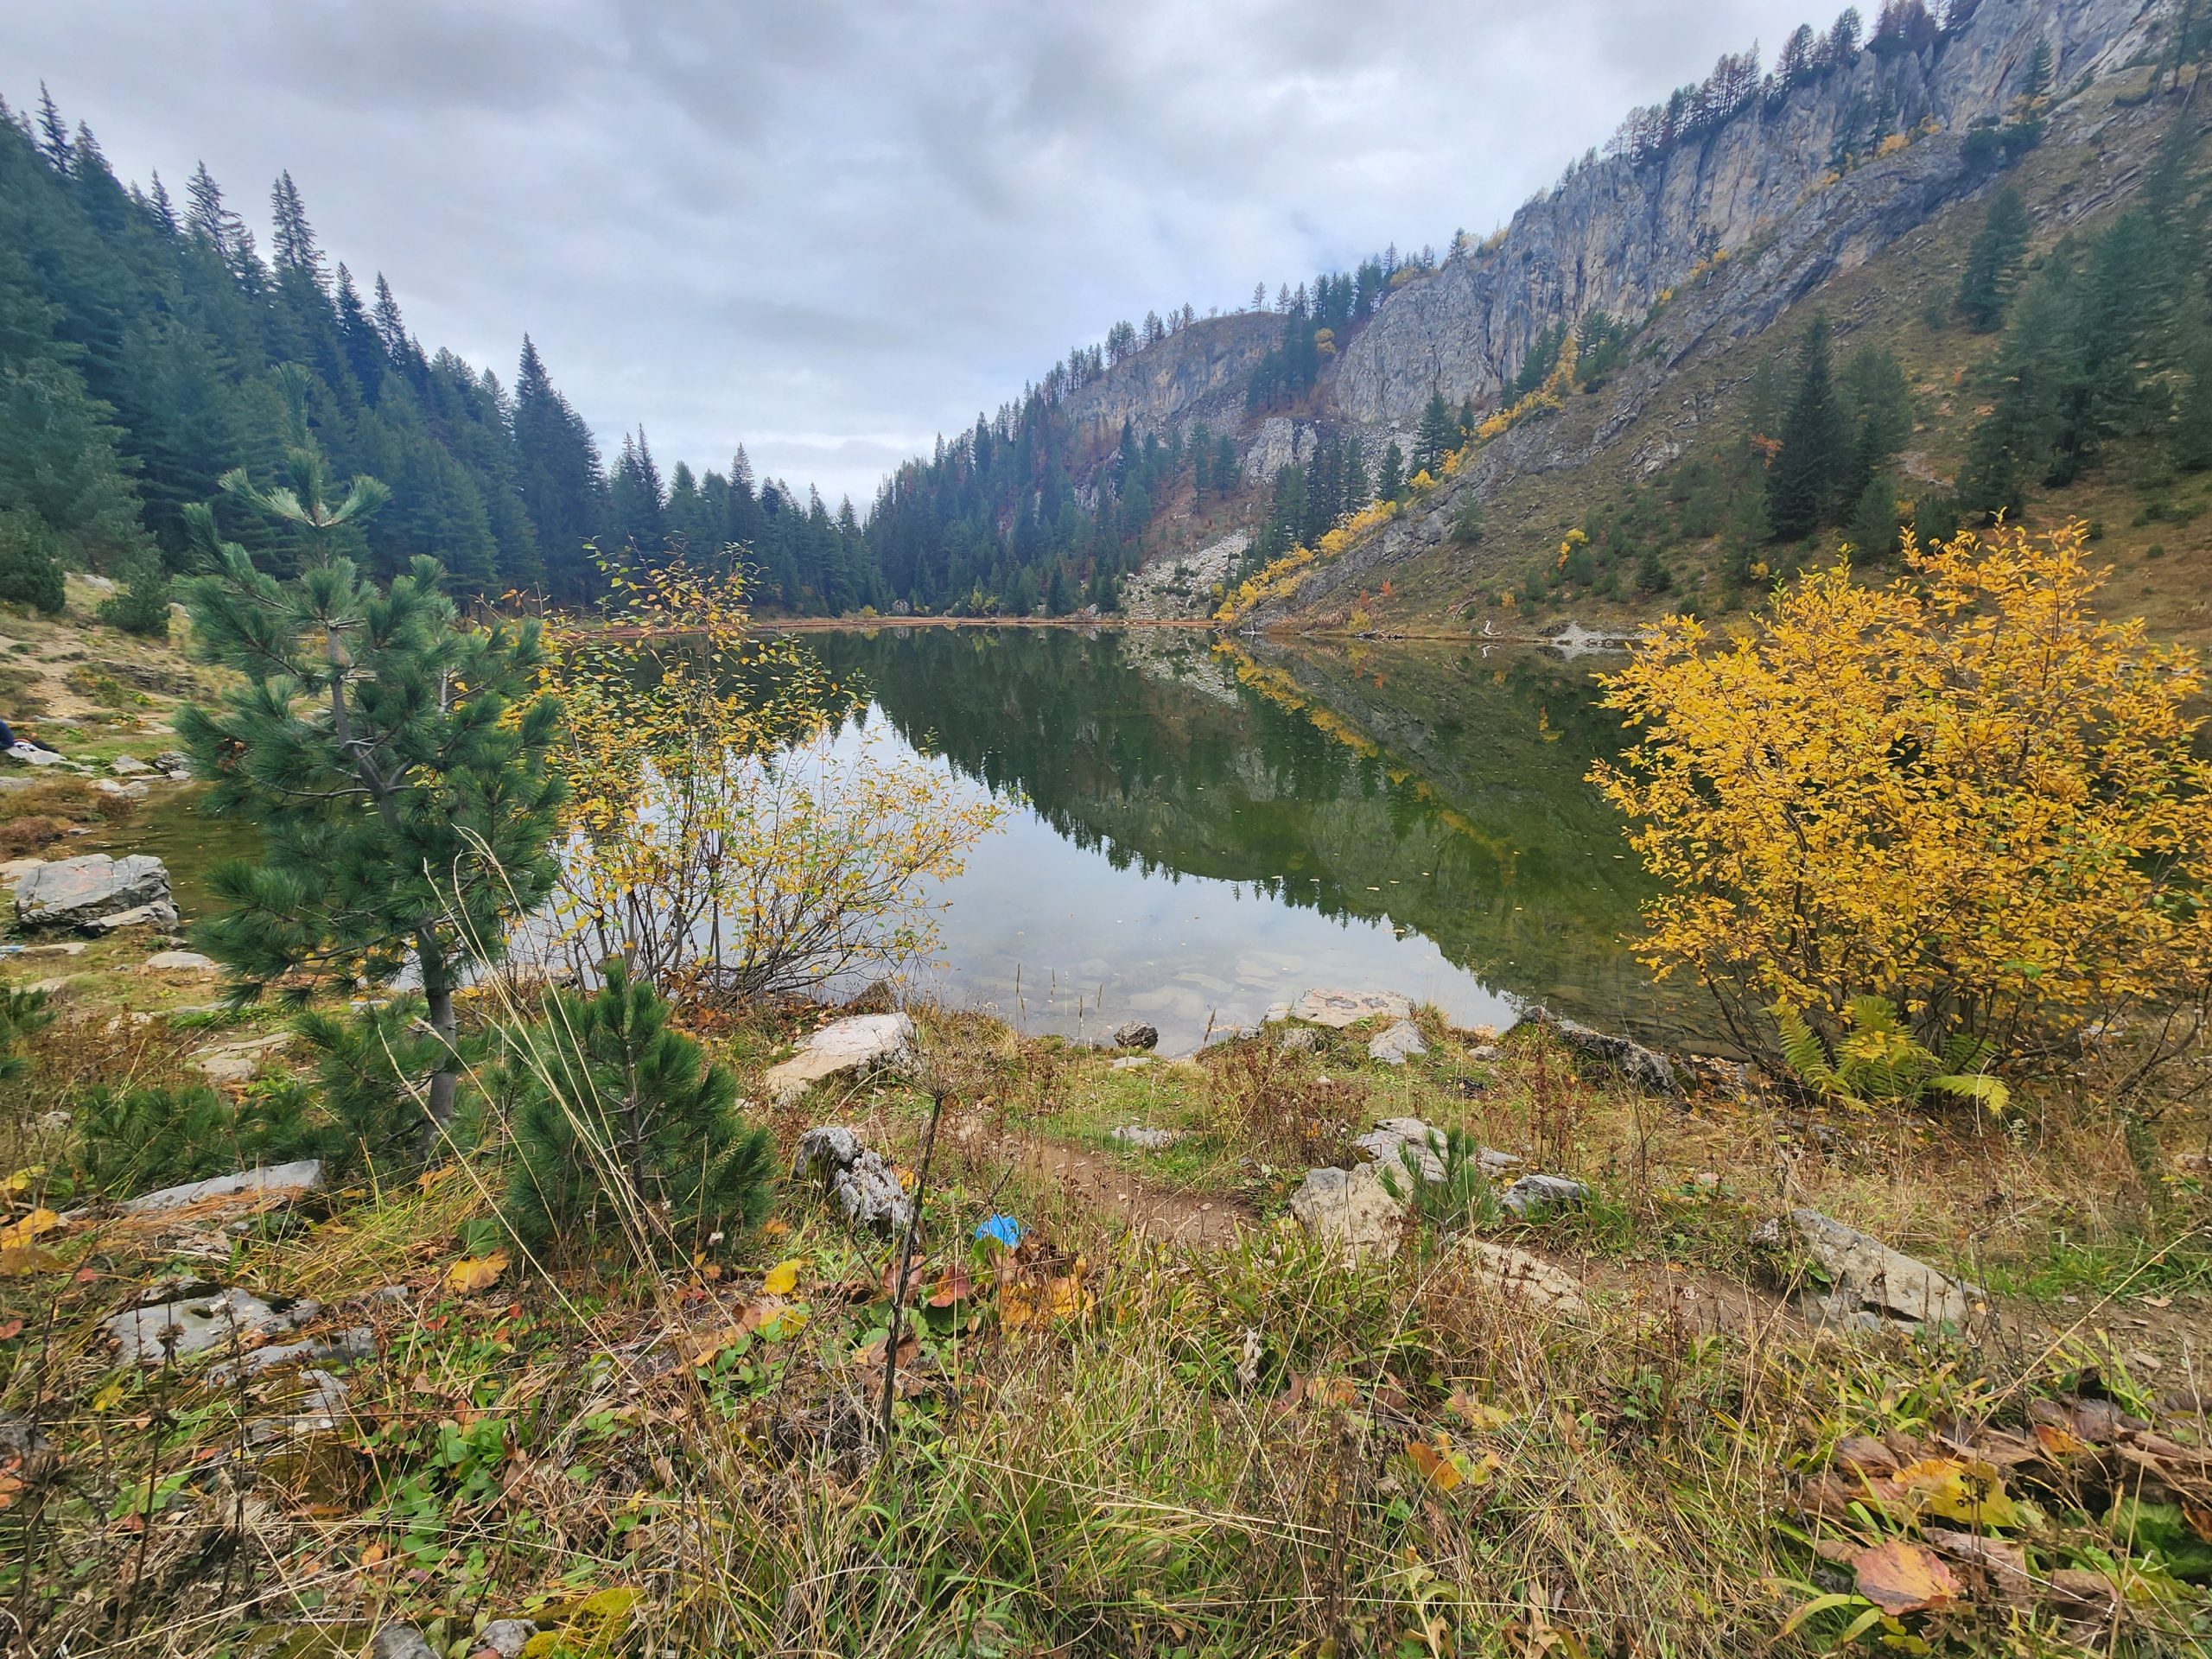
[[11, 0], [0, 91], [257, 230], [290, 168], [425, 345], [865, 511], [1115, 319], [1495, 228], [1801, 2]]

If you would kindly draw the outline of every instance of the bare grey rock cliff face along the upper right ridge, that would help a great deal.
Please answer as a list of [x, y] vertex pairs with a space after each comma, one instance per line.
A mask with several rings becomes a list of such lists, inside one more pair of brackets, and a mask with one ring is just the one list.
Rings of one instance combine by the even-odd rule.
[[1639, 319], [1712, 250], [1741, 250], [1787, 234], [1798, 215], [1820, 215], [1816, 186], [1858, 111], [1887, 100], [1893, 131], [1933, 117], [1958, 135], [2011, 108], [2037, 42], [2051, 42], [2053, 86], [2064, 91], [2130, 62], [2168, 9], [2170, 0], [1984, 0], [1960, 33], [1927, 51], [1865, 51], [1851, 69], [1772, 108], [1754, 104], [1701, 144], [1644, 166], [1584, 168], [1524, 206], [1489, 254], [1394, 294], [1336, 365], [1336, 411], [1400, 429], [1431, 392], [1495, 403], [1553, 323], [1586, 312]]

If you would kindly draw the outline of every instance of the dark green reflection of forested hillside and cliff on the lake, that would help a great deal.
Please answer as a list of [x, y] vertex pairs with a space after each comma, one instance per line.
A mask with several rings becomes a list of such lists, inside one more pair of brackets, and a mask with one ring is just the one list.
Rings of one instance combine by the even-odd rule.
[[916, 748], [1022, 790], [1115, 865], [1256, 883], [1416, 929], [1577, 1018], [1697, 1022], [1621, 938], [1644, 883], [1584, 783], [1617, 741], [1586, 672], [1449, 648], [1217, 648], [1192, 635], [816, 635]]

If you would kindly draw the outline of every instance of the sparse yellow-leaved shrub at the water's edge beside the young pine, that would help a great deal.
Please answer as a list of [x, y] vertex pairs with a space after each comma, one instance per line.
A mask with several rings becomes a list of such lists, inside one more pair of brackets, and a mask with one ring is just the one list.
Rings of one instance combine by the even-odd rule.
[[571, 785], [551, 953], [732, 998], [922, 953], [922, 885], [958, 874], [998, 807], [841, 739], [860, 699], [752, 633], [739, 575], [670, 560], [613, 580], [613, 615], [549, 628]]

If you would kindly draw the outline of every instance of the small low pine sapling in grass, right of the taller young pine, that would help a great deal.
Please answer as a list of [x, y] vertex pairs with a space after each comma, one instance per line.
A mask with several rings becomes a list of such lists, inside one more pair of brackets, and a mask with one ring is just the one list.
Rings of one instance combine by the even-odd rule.
[[776, 1146], [737, 1113], [737, 1075], [608, 962], [509, 1042], [518, 1095], [507, 1225], [531, 1250], [626, 1237], [690, 1259], [768, 1219]]

